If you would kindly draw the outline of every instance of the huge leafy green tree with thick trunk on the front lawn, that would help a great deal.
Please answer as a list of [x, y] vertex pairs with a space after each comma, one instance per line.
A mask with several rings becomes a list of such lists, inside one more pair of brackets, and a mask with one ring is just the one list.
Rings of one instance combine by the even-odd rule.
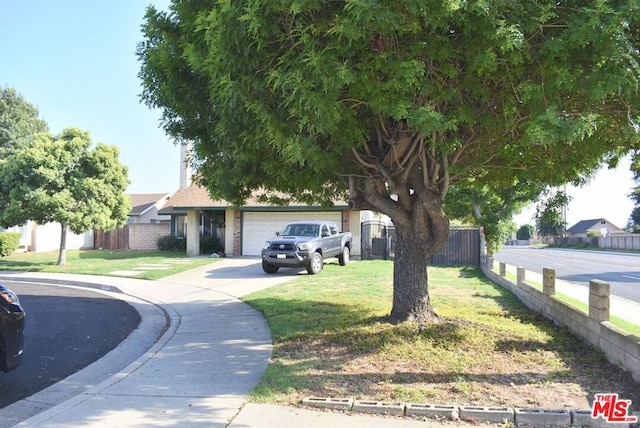
[[390, 320], [429, 322], [450, 187], [561, 184], [638, 139], [636, 0], [174, 0], [143, 101], [215, 197], [391, 217]]

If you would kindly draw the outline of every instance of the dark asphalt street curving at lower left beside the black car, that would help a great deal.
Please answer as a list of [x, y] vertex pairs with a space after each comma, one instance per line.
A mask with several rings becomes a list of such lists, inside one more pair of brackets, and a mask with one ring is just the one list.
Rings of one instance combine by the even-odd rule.
[[25, 309], [22, 364], [0, 374], [0, 408], [33, 395], [98, 360], [140, 323], [128, 303], [88, 289], [3, 282]]

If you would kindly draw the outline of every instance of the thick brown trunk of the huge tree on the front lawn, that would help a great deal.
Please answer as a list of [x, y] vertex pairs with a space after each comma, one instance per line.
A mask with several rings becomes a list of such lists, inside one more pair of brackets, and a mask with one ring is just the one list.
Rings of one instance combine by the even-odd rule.
[[436, 322], [438, 316], [429, 298], [427, 265], [435, 251], [425, 234], [412, 228], [396, 227], [396, 251], [393, 264], [393, 307], [390, 321]]

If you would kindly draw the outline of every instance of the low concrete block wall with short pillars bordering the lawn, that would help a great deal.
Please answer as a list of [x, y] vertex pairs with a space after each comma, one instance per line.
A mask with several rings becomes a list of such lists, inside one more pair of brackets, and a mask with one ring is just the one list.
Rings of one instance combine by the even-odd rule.
[[[500, 272], [505, 269], [500, 263]], [[520, 301], [532, 311], [544, 315], [556, 325], [566, 327], [572, 334], [594, 347], [600, 349], [607, 360], [627, 370], [633, 379], [640, 382], [640, 338], [622, 330], [608, 319], [609, 302], [603, 301], [601, 285], [597, 285], [595, 298], [590, 299], [595, 305], [586, 313], [573, 305], [559, 300], [556, 296], [545, 295], [542, 291], [528, 284], [524, 279], [524, 268], [519, 271], [520, 280], [514, 283], [504, 275], [493, 271], [493, 266], [482, 265], [484, 274], [496, 284], [499, 284], [514, 293]], [[592, 288], [593, 289], [593, 288]], [[602, 311], [607, 310], [606, 319], [602, 319]]]

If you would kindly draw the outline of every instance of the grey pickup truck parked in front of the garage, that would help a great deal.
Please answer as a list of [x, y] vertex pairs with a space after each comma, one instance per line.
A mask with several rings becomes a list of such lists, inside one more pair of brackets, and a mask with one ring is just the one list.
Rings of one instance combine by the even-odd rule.
[[262, 269], [276, 273], [281, 267], [302, 267], [310, 274], [322, 270], [324, 259], [337, 257], [340, 266], [349, 262], [351, 233], [339, 233], [328, 221], [296, 221], [289, 223], [276, 237], [262, 247]]

